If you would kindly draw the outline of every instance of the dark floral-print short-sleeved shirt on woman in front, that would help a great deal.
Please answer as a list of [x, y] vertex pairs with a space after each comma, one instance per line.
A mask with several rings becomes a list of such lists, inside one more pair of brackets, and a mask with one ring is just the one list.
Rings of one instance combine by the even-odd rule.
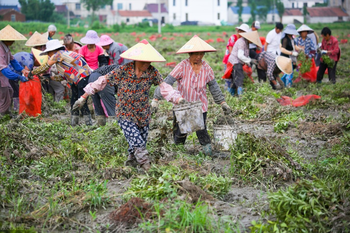
[[117, 119], [143, 127], [151, 120], [149, 90], [152, 84], [162, 83], [163, 78], [152, 65], [137, 78], [134, 66], [134, 61], [120, 65], [106, 75], [106, 80], [109, 85], [118, 87]]

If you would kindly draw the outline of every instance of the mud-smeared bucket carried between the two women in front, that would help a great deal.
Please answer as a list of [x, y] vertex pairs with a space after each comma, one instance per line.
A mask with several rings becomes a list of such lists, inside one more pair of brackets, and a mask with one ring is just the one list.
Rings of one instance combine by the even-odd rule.
[[175, 105], [173, 111], [181, 133], [191, 133], [205, 129], [201, 101]]

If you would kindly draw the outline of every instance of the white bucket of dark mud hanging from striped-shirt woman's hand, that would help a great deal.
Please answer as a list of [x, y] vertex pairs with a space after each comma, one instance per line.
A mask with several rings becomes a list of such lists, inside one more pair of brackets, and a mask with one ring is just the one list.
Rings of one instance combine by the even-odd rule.
[[213, 125], [215, 149], [220, 151], [230, 150], [237, 139], [237, 125]]

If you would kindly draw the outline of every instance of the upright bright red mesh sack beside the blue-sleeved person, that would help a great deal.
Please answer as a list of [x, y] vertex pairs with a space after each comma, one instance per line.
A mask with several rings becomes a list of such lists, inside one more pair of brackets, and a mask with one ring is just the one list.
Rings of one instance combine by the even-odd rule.
[[37, 75], [34, 75], [34, 79], [27, 82], [21, 82], [19, 99], [21, 114], [23, 111], [28, 116], [37, 116], [41, 114], [41, 82]]

